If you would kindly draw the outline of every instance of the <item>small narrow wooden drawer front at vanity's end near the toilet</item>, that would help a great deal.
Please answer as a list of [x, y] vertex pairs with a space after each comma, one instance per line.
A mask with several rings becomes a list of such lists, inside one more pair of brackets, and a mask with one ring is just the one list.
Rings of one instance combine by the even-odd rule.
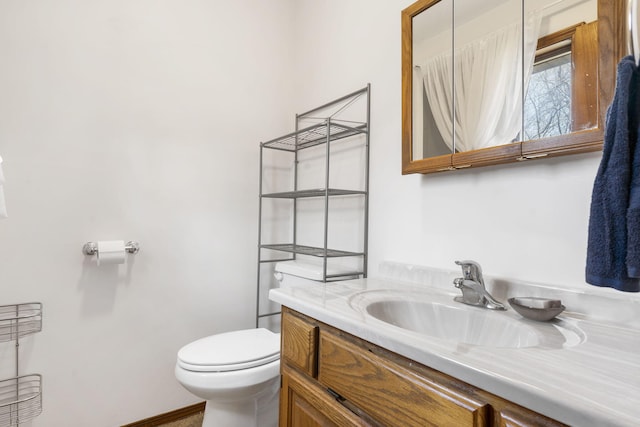
[[315, 377], [318, 327], [285, 310], [282, 312], [282, 330], [282, 359]]

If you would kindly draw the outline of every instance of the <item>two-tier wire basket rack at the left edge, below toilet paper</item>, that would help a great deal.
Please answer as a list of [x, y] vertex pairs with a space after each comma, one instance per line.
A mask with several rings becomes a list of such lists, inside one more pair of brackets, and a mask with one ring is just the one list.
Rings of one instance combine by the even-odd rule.
[[42, 304], [0, 306], [0, 343], [15, 341], [15, 376], [0, 380], [0, 427], [22, 424], [42, 412], [42, 376], [20, 375], [20, 339], [42, 330]]

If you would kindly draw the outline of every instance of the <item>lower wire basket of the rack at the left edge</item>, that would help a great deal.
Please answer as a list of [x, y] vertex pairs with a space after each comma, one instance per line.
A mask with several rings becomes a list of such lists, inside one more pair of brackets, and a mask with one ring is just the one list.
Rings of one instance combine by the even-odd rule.
[[17, 426], [42, 412], [42, 376], [22, 375], [0, 381], [0, 426]]

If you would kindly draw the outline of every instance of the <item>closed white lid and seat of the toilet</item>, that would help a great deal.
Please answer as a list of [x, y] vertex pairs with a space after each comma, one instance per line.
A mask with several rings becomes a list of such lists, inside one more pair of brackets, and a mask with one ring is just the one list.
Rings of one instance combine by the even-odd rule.
[[249, 369], [280, 358], [280, 334], [246, 329], [201, 338], [178, 351], [178, 365], [190, 371]]

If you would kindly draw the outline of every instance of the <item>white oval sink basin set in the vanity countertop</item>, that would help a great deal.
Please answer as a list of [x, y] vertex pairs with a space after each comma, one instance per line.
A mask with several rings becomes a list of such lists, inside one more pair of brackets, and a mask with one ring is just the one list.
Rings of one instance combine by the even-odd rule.
[[535, 322], [525, 320], [511, 310], [471, 307], [453, 302], [451, 298], [369, 291], [359, 294], [350, 303], [366, 318], [460, 344], [494, 348], [563, 348], [584, 339], [579, 329], [560, 319]]

